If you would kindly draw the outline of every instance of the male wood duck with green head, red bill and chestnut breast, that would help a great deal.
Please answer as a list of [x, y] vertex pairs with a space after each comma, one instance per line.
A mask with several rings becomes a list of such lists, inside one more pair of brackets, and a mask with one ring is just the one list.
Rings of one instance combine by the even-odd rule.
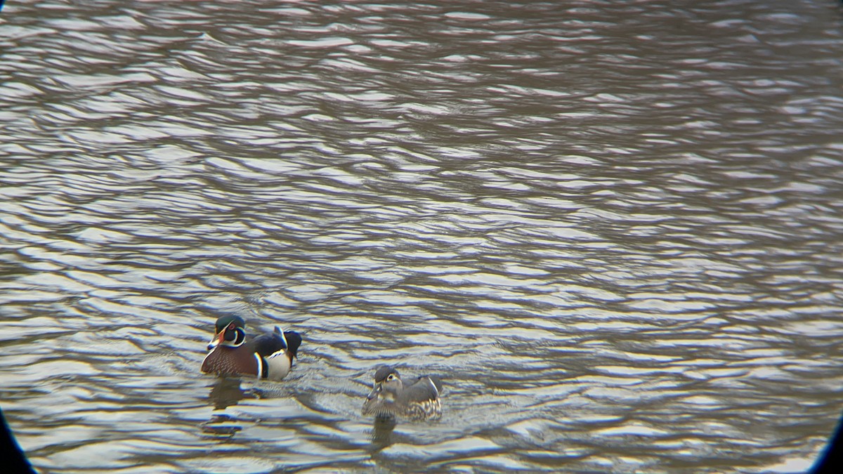
[[210, 351], [202, 361], [202, 372], [252, 375], [259, 379], [282, 380], [293, 368], [302, 337], [296, 331], [281, 331], [278, 326], [246, 342], [245, 322], [239, 316], [217, 320], [216, 333], [208, 344]]

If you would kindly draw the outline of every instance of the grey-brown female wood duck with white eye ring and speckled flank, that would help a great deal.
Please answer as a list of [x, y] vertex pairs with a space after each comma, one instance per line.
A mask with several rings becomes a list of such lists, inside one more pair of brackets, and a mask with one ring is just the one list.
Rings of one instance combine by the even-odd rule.
[[398, 370], [381, 367], [374, 373], [374, 388], [363, 403], [363, 415], [379, 418], [407, 417], [413, 421], [432, 420], [442, 416], [438, 377], [421, 375], [410, 385], [404, 385]]

